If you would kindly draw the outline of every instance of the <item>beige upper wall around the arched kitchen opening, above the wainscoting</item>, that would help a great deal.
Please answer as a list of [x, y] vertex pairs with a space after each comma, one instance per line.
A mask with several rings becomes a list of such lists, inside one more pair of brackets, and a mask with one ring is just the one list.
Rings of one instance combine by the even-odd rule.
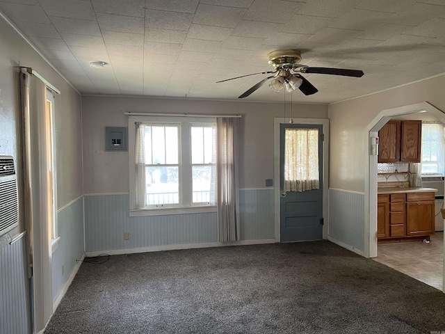
[[445, 111], [445, 75], [385, 92], [331, 104], [330, 188], [364, 192], [365, 129], [380, 111], [429, 102]]

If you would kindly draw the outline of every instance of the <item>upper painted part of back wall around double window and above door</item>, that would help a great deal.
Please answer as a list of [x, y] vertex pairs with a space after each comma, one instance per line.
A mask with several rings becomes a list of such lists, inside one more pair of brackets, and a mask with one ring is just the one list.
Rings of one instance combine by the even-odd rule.
[[[83, 96], [82, 110], [85, 193], [129, 191], [128, 153], [104, 150], [105, 127], [127, 127], [125, 111], [241, 115], [240, 187], [262, 188], [273, 179], [273, 119], [284, 116], [283, 104]], [[292, 111], [294, 118], [327, 118], [327, 105], [294, 104]]]

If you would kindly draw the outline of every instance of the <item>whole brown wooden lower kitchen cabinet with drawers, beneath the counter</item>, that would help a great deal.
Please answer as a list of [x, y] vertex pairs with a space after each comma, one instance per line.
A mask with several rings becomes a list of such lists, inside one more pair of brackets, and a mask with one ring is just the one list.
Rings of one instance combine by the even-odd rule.
[[409, 241], [416, 237], [425, 239], [434, 234], [434, 193], [381, 194], [378, 195], [377, 205], [379, 241]]

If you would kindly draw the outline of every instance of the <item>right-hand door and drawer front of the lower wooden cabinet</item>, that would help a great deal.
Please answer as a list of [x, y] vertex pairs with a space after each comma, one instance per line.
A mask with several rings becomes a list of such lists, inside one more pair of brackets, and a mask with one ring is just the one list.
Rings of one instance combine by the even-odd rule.
[[434, 234], [435, 194], [407, 193], [406, 200], [406, 235]]

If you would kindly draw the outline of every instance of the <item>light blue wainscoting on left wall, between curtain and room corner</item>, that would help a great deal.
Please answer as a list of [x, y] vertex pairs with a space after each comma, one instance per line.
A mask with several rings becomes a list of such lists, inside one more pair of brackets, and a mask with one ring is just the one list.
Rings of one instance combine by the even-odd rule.
[[53, 301], [83, 255], [83, 196], [58, 210], [57, 223], [60, 240], [52, 257]]

